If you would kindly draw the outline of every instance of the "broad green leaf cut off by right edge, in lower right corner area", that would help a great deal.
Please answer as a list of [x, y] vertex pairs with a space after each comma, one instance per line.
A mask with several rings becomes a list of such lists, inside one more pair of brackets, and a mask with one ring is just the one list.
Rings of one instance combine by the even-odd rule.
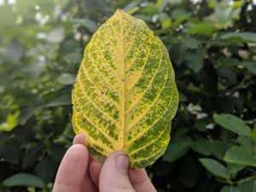
[[224, 160], [241, 166], [256, 166], [256, 158], [253, 157], [253, 153], [240, 146], [230, 148], [226, 152]]

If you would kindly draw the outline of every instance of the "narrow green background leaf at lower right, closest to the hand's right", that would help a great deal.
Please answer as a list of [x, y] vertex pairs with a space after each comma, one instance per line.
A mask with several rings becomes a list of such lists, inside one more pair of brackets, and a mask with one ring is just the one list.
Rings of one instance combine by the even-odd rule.
[[223, 178], [230, 177], [226, 167], [220, 164], [217, 160], [213, 160], [210, 158], [201, 158], [200, 162], [203, 166], [207, 168], [209, 172], [212, 173], [212, 175], [216, 177], [223, 177]]

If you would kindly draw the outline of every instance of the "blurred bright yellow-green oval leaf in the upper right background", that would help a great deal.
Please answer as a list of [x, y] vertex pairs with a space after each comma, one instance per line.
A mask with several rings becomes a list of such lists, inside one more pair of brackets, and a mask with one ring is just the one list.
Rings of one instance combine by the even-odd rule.
[[209, 23], [197, 23], [191, 26], [188, 30], [189, 34], [193, 35], [205, 35], [211, 37], [215, 32], [215, 28]]

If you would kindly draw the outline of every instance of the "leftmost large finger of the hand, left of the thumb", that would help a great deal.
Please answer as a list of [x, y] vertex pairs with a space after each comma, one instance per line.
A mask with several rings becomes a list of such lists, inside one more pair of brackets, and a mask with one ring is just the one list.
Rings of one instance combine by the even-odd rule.
[[84, 145], [75, 144], [70, 147], [61, 160], [53, 192], [80, 192], [88, 158], [89, 153]]

